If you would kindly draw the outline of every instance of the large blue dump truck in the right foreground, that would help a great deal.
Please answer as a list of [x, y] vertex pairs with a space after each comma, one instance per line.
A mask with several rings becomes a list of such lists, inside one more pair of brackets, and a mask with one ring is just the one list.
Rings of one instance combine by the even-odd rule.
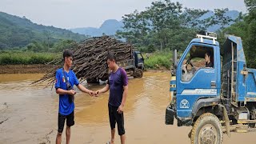
[[[204, 65], [210, 54], [213, 66]], [[223, 134], [256, 131], [256, 70], [246, 67], [239, 37], [220, 47], [214, 33], [197, 34], [177, 61], [174, 50], [166, 125], [192, 126], [191, 143], [222, 143]]]

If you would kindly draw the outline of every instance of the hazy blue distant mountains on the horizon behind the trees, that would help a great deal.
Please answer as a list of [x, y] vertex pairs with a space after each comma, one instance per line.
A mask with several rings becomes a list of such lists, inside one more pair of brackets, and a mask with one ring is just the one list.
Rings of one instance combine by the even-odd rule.
[[[214, 15], [214, 12], [209, 11], [206, 14], [203, 14], [202, 17], [198, 19], [203, 20], [206, 18], [210, 18], [213, 15]], [[226, 15], [234, 20], [238, 18], [239, 12], [237, 10], [230, 10], [226, 13]], [[228, 26], [230, 26], [233, 23], [234, 22], [230, 22]], [[109, 19], [103, 22], [102, 26], [100, 26], [99, 28], [85, 27], [85, 28], [74, 28], [70, 30], [73, 31], [74, 33], [90, 35], [92, 37], [98, 37], [98, 36], [102, 36], [102, 34], [114, 35], [117, 32], [117, 30], [122, 30], [122, 26], [123, 26], [122, 21], [118, 22], [115, 19]], [[210, 26], [208, 28], [208, 31], [216, 31], [216, 30], [219, 30], [220, 27], [221, 27], [220, 25]]]

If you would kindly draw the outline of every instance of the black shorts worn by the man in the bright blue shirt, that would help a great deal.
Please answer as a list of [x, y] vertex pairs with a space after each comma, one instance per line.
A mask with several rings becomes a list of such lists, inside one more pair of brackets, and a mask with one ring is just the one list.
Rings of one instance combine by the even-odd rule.
[[66, 120], [66, 126], [74, 126], [74, 111], [69, 115], [62, 115], [58, 113], [58, 132], [62, 133]]

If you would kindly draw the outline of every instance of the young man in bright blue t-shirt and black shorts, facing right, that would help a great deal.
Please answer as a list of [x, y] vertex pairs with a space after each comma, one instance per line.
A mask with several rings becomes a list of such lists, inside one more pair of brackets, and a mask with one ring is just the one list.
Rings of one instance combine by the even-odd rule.
[[62, 131], [66, 120], [66, 143], [70, 143], [70, 127], [74, 126], [74, 94], [73, 86], [76, 85], [79, 90], [94, 95], [94, 91], [86, 89], [78, 82], [74, 71], [70, 70], [73, 61], [73, 52], [65, 50], [63, 53], [64, 66], [56, 71], [56, 93], [59, 94], [58, 105], [58, 134], [56, 144], [62, 142]]

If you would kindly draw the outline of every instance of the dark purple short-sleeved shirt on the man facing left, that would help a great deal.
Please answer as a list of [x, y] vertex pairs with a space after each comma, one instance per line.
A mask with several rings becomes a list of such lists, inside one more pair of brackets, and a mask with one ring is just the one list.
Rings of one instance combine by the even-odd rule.
[[119, 67], [115, 73], [111, 72], [107, 84], [110, 86], [109, 104], [111, 106], [120, 106], [122, 103], [123, 86], [128, 85], [126, 70]]

